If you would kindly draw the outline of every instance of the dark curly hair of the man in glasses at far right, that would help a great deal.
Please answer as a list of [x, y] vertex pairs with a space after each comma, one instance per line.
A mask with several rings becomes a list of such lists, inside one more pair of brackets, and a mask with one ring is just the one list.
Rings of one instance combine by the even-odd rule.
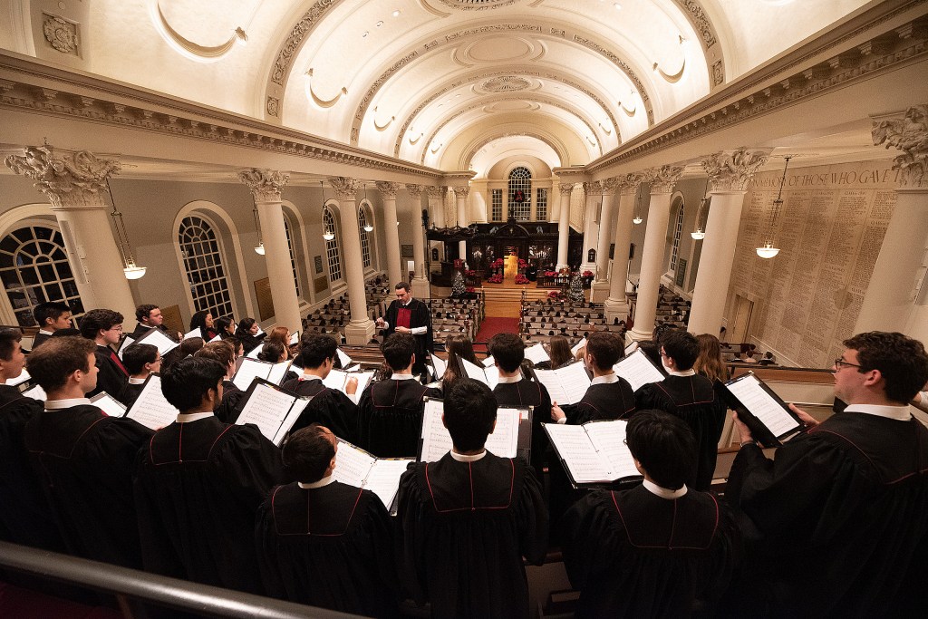
[[886, 397], [893, 402], [909, 404], [909, 400], [928, 382], [928, 354], [922, 342], [902, 333], [870, 331], [858, 333], [842, 342], [845, 348], [857, 351], [858, 372], [880, 370]]

